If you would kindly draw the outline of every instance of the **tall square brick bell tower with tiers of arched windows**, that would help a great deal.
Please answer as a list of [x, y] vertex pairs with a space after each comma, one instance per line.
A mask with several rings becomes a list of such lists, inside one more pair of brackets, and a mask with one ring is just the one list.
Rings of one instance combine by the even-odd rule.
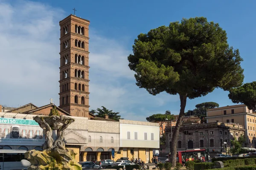
[[60, 21], [60, 106], [71, 116], [89, 117], [89, 20], [70, 14]]

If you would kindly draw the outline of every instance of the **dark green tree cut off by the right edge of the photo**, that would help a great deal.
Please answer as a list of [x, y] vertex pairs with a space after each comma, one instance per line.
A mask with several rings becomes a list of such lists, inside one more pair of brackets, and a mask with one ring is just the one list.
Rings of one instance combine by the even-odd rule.
[[234, 103], [244, 103], [249, 109], [256, 111], [256, 82], [245, 83], [238, 88], [232, 88], [228, 97]]

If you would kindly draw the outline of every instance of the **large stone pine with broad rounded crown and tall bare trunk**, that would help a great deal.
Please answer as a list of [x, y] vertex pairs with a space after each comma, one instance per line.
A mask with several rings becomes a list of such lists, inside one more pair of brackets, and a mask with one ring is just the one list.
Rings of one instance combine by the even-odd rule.
[[180, 97], [171, 142], [173, 167], [186, 100], [205, 96], [215, 88], [230, 90], [244, 79], [239, 50], [228, 45], [227, 34], [218, 23], [205, 17], [182, 19], [139, 34], [128, 61], [137, 86], [152, 95], [165, 91]]

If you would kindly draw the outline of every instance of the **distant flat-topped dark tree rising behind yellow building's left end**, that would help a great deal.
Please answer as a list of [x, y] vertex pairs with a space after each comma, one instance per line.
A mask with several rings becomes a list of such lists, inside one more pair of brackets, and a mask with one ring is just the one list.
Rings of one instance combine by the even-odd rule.
[[206, 116], [206, 112], [208, 109], [218, 108], [219, 104], [215, 102], [204, 102], [198, 105], [195, 105], [194, 114], [198, 117]]

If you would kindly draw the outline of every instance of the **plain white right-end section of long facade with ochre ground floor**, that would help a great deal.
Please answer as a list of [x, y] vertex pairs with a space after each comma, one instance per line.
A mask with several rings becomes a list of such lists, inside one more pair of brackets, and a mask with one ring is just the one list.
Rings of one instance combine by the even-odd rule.
[[153, 149], [160, 146], [159, 123], [119, 120], [120, 149], [117, 158], [142, 159], [150, 162]]

